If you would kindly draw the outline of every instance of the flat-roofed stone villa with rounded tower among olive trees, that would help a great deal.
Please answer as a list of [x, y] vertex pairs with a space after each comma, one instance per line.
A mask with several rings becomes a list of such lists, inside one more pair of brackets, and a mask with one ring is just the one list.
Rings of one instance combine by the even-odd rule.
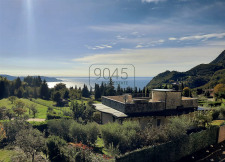
[[101, 112], [101, 124], [135, 120], [142, 126], [149, 122], [160, 126], [171, 116], [189, 114], [197, 110], [198, 100], [182, 97], [181, 91], [173, 89], [153, 89], [151, 98], [133, 98], [131, 95], [103, 96], [102, 104], [94, 106]]

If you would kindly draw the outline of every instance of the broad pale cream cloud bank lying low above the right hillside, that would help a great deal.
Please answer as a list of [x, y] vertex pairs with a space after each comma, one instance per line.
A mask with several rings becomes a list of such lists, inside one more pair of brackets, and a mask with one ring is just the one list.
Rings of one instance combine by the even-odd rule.
[[[141, 45], [140, 45], [141, 46]], [[186, 71], [209, 63], [223, 47], [186, 47], [120, 50], [114, 53], [94, 54], [73, 61], [79, 64], [133, 64], [137, 76], [155, 76], [165, 70]]]

